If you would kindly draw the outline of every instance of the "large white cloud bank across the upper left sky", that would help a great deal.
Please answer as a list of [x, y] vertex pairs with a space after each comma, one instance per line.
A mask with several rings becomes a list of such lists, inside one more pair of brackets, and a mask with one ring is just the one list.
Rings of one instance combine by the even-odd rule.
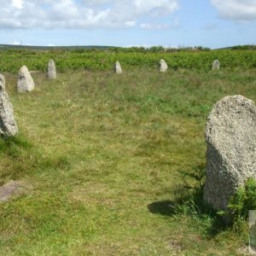
[[179, 0], [0, 0], [0, 28], [123, 28], [160, 20]]

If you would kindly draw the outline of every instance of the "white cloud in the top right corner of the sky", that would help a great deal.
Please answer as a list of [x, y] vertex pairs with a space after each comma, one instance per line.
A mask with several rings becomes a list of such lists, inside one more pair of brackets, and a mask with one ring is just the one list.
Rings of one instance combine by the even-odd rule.
[[256, 0], [211, 0], [221, 18], [238, 21], [256, 20]]

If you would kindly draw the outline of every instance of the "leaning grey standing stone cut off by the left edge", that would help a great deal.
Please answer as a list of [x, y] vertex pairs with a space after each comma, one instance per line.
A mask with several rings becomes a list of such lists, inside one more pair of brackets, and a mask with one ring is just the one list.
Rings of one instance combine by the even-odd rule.
[[18, 133], [18, 126], [15, 122], [13, 105], [9, 102], [2, 79], [3, 76], [0, 79], [0, 134], [3, 137], [11, 137]]

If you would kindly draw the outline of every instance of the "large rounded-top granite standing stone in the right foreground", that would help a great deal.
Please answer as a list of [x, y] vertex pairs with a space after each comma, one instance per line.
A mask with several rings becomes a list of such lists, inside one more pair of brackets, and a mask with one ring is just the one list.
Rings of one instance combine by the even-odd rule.
[[256, 107], [244, 96], [225, 96], [207, 119], [204, 199], [224, 210], [248, 177], [256, 178]]

